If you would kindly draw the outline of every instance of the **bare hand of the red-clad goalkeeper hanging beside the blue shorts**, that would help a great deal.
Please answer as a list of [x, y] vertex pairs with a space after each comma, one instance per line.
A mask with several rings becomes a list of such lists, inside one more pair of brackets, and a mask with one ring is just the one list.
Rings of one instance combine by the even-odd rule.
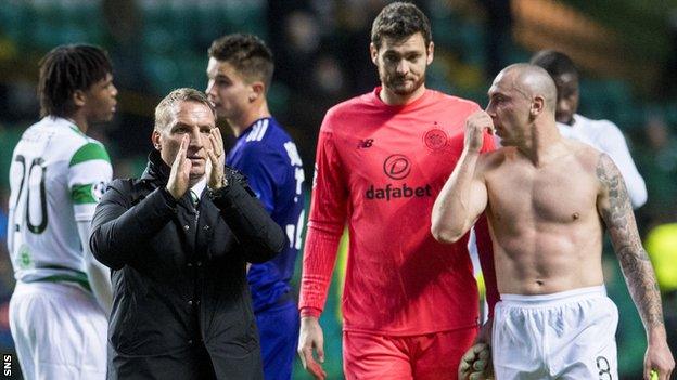
[[[315, 361], [312, 352], [317, 351], [318, 362]], [[316, 317], [302, 317], [301, 331], [298, 335], [298, 356], [304, 368], [312, 375], [315, 379], [327, 379], [327, 372], [322, 369], [324, 363], [324, 337], [322, 328]]]

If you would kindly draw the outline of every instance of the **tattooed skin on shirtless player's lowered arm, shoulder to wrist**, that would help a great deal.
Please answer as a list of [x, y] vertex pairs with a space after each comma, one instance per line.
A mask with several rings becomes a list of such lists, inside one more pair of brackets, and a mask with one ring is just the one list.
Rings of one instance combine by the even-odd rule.
[[628, 290], [647, 329], [663, 325], [661, 292], [651, 261], [637, 232], [635, 214], [618, 168], [601, 154], [597, 162], [597, 178], [608, 193], [609, 202], [599, 207], [600, 214], [621, 262]]

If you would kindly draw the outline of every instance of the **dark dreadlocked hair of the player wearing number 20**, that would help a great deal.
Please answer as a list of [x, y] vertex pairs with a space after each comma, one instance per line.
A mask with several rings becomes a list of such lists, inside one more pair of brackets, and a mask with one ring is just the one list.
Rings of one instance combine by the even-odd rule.
[[113, 73], [108, 54], [91, 44], [60, 45], [40, 60], [38, 99], [40, 115], [71, 116], [73, 93], [87, 90]]

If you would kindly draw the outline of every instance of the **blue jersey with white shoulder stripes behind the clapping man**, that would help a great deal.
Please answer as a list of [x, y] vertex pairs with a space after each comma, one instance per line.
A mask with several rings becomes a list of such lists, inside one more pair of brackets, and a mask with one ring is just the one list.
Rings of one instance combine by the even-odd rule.
[[226, 163], [243, 172], [288, 245], [273, 260], [253, 264], [247, 274], [254, 312], [274, 306], [291, 292], [304, 223], [304, 171], [292, 137], [272, 118], [256, 120], [237, 140]]

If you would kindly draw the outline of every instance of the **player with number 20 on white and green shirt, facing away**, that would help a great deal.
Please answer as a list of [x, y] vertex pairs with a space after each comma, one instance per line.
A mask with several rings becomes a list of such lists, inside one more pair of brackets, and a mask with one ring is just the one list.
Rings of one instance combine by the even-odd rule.
[[113, 170], [103, 145], [85, 132], [111, 120], [116, 95], [100, 48], [62, 45], [40, 62], [43, 118], [24, 132], [10, 167], [10, 326], [27, 380], [106, 376], [111, 279], [88, 241]]

